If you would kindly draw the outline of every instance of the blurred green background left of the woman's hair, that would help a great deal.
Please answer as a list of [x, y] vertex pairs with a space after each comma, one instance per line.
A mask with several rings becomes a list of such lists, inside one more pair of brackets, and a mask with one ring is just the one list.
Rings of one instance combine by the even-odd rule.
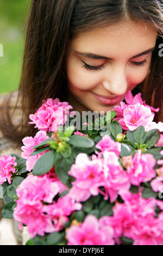
[[30, 3], [31, 0], [0, 0], [0, 93], [18, 88]]

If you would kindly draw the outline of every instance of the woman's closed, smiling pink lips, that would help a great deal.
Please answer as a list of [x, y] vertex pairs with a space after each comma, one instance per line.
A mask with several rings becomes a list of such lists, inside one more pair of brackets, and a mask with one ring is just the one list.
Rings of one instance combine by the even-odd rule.
[[115, 105], [116, 103], [122, 101], [124, 94], [117, 96], [117, 97], [109, 97], [109, 96], [103, 96], [103, 95], [98, 95], [95, 93], [92, 93], [99, 102], [103, 103], [104, 105], [112, 106]]

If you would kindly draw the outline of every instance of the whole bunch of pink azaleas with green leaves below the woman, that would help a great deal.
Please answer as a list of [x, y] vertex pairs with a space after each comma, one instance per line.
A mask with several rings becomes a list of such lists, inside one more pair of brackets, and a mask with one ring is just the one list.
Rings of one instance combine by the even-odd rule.
[[110, 131], [108, 117], [103, 130], [83, 131], [61, 130], [72, 107], [48, 99], [30, 115], [39, 131], [23, 139], [21, 159], [0, 159], [11, 199], [3, 216], [10, 208], [30, 243], [163, 245], [163, 124], [141, 94], [125, 100], [111, 111]]

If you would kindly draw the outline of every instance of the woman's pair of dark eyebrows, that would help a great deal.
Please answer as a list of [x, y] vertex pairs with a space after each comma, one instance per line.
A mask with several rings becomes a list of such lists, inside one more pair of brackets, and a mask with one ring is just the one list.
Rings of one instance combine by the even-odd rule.
[[[144, 52], [136, 54], [135, 56], [131, 57], [130, 59], [134, 59], [134, 58], [146, 55], [146, 54], [148, 54], [150, 52], [153, 52], [154, 50], [155, 50], [155, 47], [150, 48], [150, 49], [148, 49], [148, 50], [146, 50]], [[111, 58], [107, 58], [107, 57], [104, 57], [104, 56], [101, 56], [101, 55], [97, 55], [95, 53], [78, 52], [78, 51], [75, 51], [75, 53], [77, 53], [80, 56], [91, 58], [91, 59], [111, 59]]]

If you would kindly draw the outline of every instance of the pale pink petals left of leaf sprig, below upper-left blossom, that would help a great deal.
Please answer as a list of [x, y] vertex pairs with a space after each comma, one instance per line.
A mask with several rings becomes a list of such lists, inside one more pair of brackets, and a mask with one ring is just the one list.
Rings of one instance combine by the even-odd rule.
[[47, 152], [45, 151], [44, 153], [40, 153], [35, 156], [30, 156], [30, 154], [32, 154], [32, 152], [35, 151], [35, 149], [32, 149], [32, 148], [40, 144], [41, 142], [45, 141], [46, 139], [49, 139], [49, 137], [46, 135], [45, 131], [37, 132], [34, 138], [33, 137], [23, 138], [22, 142], [24, 146], [21, 147], [23, 151], [21, 154], [21, 157], [23, 157], [23, 159], [27, 159], [26, 167], [28, 172], [31, 172], [36, 161], [40, 158], [40, 156], [43, 155], [45, 152]]

